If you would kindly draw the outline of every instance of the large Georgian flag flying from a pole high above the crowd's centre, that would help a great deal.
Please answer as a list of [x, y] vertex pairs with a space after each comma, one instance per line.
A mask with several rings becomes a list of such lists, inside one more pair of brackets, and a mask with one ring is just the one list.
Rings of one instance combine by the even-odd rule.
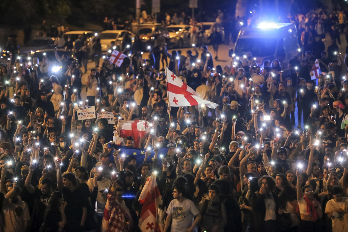
[[166, 67], [167, 93], [169, 106], [191, 106], [205, 104], [215, 109], [218, 104], [203, 100], [195, 90], [186, 85]]

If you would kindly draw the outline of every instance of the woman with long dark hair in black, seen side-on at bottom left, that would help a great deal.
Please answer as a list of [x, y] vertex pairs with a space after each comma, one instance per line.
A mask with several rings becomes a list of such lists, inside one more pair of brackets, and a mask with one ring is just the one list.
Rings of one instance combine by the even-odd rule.
[[65, 217], [66, 202], [61, 191], [54, 191], [48, 201], [46, 208], [44, 223], [40, 228], [40, 232], [56, 232], [64, 228], [66, 224]]

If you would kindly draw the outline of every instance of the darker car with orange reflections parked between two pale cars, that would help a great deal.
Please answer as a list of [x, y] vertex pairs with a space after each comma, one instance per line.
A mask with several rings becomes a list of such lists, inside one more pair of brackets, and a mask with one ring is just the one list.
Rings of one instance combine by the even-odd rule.
[[139, 34], [139, 37], [143, 41], [145, 47], [152, 47], [155, 45], [155, 38], [163, 40], [164, 43], [169, 45], [169, 33], [168, 30], [163, 26], [141, 26], [134, 33]]

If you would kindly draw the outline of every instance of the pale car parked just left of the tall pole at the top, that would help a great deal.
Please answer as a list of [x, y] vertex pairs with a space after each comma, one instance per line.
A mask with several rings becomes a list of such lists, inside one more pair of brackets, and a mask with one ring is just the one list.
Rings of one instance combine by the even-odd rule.
[[108, 30], [103, 31], [100, 35], [100, 43], [102, 45], [102, 53], [108, 53], [108, 49], [110, 48], [111, 41], [115, 41], [115, 46], [118, 51], [121, 50], [122, 47], [122, 39], [123, 36], [128, 33], [129, 38], [134, 41], [134, 34], [127, 30]]

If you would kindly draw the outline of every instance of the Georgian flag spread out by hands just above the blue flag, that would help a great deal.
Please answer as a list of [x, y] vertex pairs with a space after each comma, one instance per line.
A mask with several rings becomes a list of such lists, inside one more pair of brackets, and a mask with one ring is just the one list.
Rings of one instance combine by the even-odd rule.
[[117, 124], [117, 130], [120, 131], [120, 137], [123, 138], [125, 142], [128, 136], [132, 136], [134, 138], [134, 146], [138, 147], [140, 138], [149, 130], [149, 122], [145, 120], [120, 120]]

